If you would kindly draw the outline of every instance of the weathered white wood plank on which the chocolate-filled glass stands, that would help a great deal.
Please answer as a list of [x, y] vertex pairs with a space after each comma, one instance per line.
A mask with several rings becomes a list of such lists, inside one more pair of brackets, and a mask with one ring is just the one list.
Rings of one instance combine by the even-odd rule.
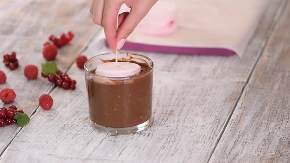
[[[68, 73], [78, 88], [56, 88], [53, 109], [37, 109], [0, 162], [206, 162], [264, 47], [280, 2], [271, 1], [243, 58], [146, 54], [155, 62], [153, 125], [138, 134], [106, 135], [89, 126], [84, 72], [73, 65]], [[83, 54], [105, 52], [109, 50], [95, 38]]]

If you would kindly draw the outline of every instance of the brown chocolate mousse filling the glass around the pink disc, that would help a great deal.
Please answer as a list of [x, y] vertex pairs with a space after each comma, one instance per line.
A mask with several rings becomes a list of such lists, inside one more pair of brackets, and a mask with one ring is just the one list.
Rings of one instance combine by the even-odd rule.
[[[138, 75], [113, 79], [97, 75], [87, 78], [86, 74], [89, 116], [97, 125], [132, 127], [151, 118], [153, 66], [130, 58], [118, 59], [118, 62], [140, 65], [141, 72]], [[102, 60], [103, 63], [114, 61]], [[95, 74], [95, 70], [90, 70], [90, 74]]]

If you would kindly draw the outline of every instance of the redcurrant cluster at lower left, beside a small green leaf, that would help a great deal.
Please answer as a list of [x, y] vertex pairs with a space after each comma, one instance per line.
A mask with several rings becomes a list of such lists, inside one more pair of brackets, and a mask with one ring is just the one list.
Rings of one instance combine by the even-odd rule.
[[14, 105], [11, 105], [8, 109], [5, 107], [0, 108], [0, 127], [5, 125], [11, 125], [13, 120], [16, 122], [17, 120], [14, 119], [16, 113], [24, 113], [23, 110], [17, 110]]

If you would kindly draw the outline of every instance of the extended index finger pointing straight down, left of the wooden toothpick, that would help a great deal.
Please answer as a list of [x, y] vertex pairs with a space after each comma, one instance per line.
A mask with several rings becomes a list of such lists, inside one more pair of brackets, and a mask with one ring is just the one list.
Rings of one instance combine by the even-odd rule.
[[111, 50], [116, 53], [116, 19], [122, 2], [120, 0], [106, 0], [103, 12], [102, 26]]

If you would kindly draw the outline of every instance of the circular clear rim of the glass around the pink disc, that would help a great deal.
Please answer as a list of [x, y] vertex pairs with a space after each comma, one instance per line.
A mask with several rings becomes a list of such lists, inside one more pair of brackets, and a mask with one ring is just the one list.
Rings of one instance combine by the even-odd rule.
[[[110, 80], [130, 80], [130, 79], [134, 79], [134, 78], [139, 78], [139, 77], [143, 77], [145, 75], [147, 75], [149, 72], [152, 71], [153, 67], [154, 67], [154, 63], [153, 61], [145, 56], [145, 55], [142, 55], [142, 54], [137, 54], [137, 53], [131, 53], [131, 52], [118, 52], [118, 54], [126, 54], [126, 53], [130, 53], [130, 54], [135, 54], [135, 55], [139, 55], [139, 56], [142, 56], [142, 57], [145, 57], [146, 59], [149, 60], [149, 62], [151, 63], [151, 66], [149, 67], [149, 71], [144, 73], [143, 75], [133, 75], [133, 76], [129, 76], [129, 77], [106, 77], [106, 76], [102, 76], [102, 75], [97, 75], [97, 74], [94, 74], [94, 73], [91, 73], [88, 68], [87, 68], [87, 64], [90, 60], [94, 59], [94, 58], [97, 58], [99, 56], [102, 56], [102, 55], [108, 55], [108, 54], [114, 54], [114, 53], [105, 53], [105, 54], [98, 54], [98, 55], [95, 55], [93, 57], [90, 57], [89, 59], [87, 59], [86, 63], [85, 63], [85, 71], [87, 71], [87, 73], [89, 73], [90, 75], [92, 76], [96, 76], [96, 77], [101, 77], [101, 78], [106, 78], [106, 79], [110, 79]], [[114, 54], [115, 55], [115, 54]]]

